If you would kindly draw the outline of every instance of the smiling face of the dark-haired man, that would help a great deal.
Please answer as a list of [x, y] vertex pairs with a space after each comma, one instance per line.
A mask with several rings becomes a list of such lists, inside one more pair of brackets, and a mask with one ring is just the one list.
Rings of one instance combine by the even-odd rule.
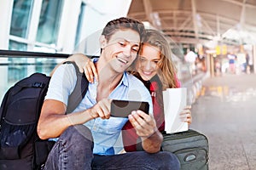
[[[105, 37], [103, 37], [105, 39]], [[136, 59], [140, 36], [131, 29], [116, 31], [109, 41], [102, 41], [102, 56], [115, 72], [124, 72]], [[104, 44], [105, 43], [105, 44]]]

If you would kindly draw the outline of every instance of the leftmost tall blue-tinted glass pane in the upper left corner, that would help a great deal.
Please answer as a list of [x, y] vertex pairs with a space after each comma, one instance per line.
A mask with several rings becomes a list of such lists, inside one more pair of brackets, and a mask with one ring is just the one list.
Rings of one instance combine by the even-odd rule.
[[14, 0], [11, 35], [26, 38], [31, 19], [32, 3], [32, 0]]

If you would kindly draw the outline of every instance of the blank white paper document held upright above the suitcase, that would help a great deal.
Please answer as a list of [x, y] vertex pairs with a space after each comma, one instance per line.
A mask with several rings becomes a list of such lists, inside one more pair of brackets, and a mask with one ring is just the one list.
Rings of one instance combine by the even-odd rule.
[[183, 122], [180, 116], [187, 105], [187, 88], [167, 88], [163, 91], [163, 99], [166, 133], [189, 130], [188, 122]]

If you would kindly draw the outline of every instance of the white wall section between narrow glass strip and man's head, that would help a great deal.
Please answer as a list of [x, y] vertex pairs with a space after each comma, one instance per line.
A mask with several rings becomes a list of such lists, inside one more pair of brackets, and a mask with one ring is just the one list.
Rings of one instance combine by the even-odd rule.
[[87, 0], [84, 2], [86, 7], [81, 39], [79, 47], [74, 51], [97, 55], [100, 52], [99, 37], [103, 27], [109, 20], [127, 16], [131, 0]]

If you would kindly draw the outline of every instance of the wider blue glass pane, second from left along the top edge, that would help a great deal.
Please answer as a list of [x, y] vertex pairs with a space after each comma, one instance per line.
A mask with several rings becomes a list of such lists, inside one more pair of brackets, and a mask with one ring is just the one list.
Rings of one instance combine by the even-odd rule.
[[43, 0], [37, 42], [56, 44], [60, 27], [62, 0]]

